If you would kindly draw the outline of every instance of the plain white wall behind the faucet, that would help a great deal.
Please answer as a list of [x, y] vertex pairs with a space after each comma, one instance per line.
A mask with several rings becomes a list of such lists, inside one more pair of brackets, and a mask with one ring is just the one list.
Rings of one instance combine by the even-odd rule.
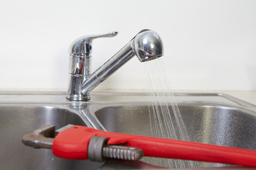
[[[0, 89], [66, 89], [68, 47], [93, 43], [96, 69], [144, 28], [164, 42], [173, 89], [256, 90], [256, 1], [0, 0]], [[144, 89], [134, 57], [98, 89]]]

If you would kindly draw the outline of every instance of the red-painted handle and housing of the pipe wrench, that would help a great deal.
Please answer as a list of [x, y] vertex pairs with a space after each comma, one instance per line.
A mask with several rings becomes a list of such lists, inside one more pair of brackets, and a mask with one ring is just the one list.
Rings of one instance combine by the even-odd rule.
[[201, 162], [256, 166], [256, 151], [197, 142], [105, 132], [75, 125], [60, 132], [53, 141], [53, 154], [65, 159], [87, 159], [92, 136], [107, 137], [108, 145], [126, 144], [143, 150], [144, 156], [187, 159]]

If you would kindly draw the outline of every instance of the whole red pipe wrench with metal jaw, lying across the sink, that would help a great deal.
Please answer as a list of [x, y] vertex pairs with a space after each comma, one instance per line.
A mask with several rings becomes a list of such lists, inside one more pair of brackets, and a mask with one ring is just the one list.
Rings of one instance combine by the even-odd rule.
[[110, 157], [137, 160], [144, 152], [148, 157], [256, 166], [255, 150], [105, 132], [78, 125], [67, 125], [56, 131], [58, 135], [54, 139], [43, 139], [54, 136], [53, 128], [53, 125], [48, 125], [36, 130], [25, 135], [22, 141], [30, 147], [52, 148], [55, 156], [65, 159], [103, 161]]

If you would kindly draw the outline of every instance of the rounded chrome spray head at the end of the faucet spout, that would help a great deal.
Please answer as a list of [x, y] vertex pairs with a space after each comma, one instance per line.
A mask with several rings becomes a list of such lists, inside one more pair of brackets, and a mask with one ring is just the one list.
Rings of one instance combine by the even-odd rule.
[[153, 30], [141, 30], [133, 38], [132, 50], [140, 62], [154, 60], [164, 55], [163, 42]]

